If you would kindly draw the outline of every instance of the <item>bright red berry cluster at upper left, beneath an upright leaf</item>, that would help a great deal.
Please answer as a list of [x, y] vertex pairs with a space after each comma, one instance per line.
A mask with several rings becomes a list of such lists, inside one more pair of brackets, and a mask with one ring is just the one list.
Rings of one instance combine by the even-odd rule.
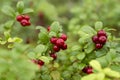
[[20, 22], [22, 26], [30, 26], [30, 17], [28, 15], [18, 15], [16, 20]]

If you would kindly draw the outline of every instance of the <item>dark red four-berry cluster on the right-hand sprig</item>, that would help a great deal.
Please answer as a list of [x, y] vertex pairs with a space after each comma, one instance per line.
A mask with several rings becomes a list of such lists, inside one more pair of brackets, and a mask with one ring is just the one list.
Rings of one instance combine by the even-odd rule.
[[104, 30], [98, 31], [97, 35], [92, 37], [96, 49], [101, 49], [107, 41], [107, 34]]

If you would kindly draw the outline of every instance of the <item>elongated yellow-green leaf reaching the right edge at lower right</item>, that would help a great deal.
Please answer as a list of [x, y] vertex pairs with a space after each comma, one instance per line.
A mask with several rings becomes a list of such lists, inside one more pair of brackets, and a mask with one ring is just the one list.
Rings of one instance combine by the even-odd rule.
[[110, 68], [105, 68], [104, 73], [109, 77], [120, 78], [120, 73], [113, 71]]

